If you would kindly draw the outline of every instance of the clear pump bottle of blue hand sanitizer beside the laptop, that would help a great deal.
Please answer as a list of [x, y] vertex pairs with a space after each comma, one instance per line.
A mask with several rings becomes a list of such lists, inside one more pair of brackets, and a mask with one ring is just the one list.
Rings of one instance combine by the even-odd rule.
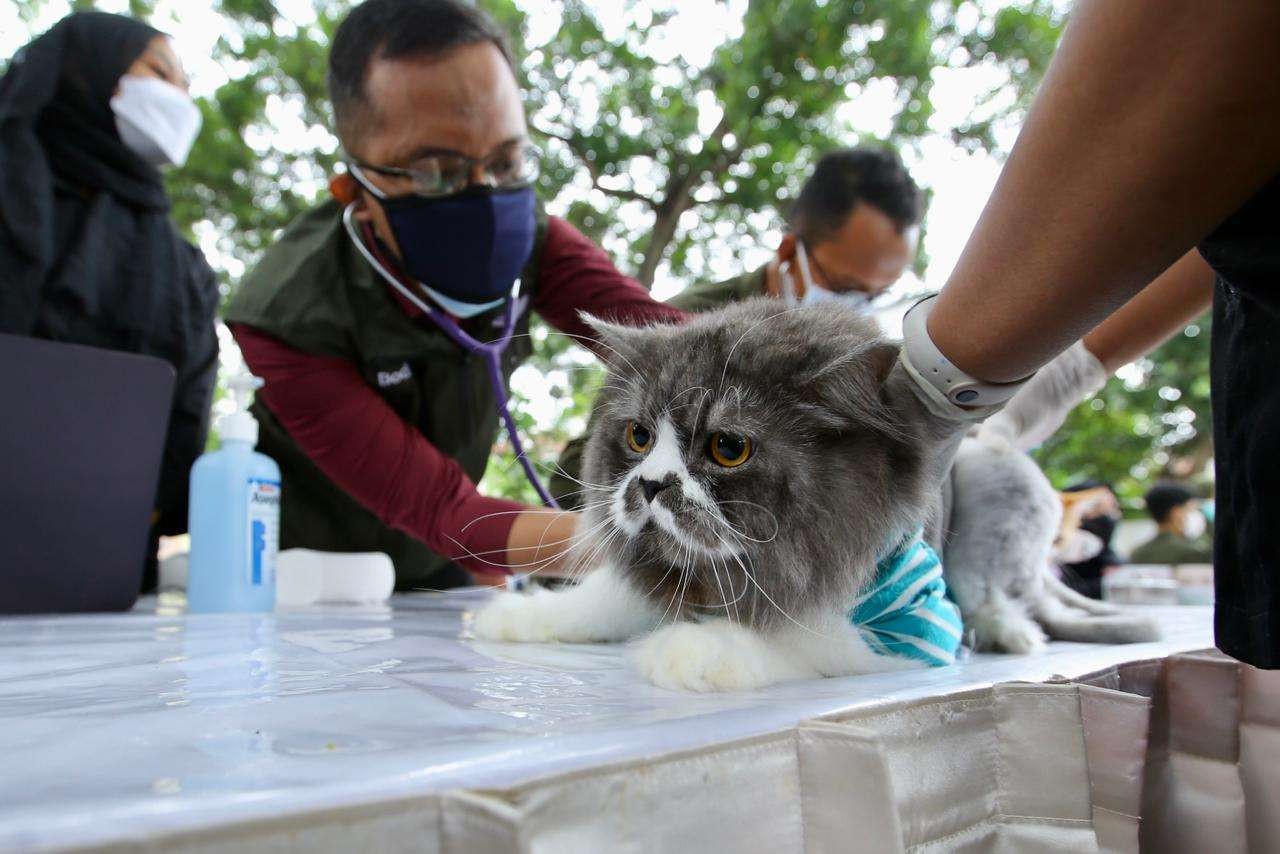
[[262, 380], [228, 382], [236, 411], [223, 419], [223, 447], [191, 467], [191, 563], [187, 609], [273, 611], [280, 531], [280, 467], [253, 451], [250, 396]]

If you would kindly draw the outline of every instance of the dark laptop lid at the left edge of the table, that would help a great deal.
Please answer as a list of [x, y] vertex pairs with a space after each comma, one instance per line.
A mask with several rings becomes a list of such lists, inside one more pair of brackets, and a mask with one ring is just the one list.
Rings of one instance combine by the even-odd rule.
[[159, 359], [0, 335], [0, 613], [133, 607], [173, 384]]

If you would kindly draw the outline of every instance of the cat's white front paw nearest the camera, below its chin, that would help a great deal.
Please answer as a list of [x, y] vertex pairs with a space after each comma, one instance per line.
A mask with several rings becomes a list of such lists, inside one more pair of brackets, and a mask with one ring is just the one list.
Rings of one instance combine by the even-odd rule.
[[750, 630], [727, 622], [677, 622], [640, 640], [632, 659], [654, 685], [684, 691], [763, 688], [787, 673]]

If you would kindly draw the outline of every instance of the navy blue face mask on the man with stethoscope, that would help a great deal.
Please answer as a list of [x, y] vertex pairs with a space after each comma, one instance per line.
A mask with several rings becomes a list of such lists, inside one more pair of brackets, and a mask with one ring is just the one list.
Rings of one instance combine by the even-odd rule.
[[404, 271], [456, 318], [500, 306], [534, 251], [530, 187], [380, 201]]

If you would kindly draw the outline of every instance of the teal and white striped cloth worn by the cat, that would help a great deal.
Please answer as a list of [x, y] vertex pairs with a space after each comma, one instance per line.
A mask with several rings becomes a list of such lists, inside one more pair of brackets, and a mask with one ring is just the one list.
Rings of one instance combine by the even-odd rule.
[[849, 621], [881, 656], [902, 656], [931, 667], [955, 663], [960, 612], [947, 599], [942, 561], [924, 544], [922, 530], [877, 562], [876, 576], [849, 609]]

